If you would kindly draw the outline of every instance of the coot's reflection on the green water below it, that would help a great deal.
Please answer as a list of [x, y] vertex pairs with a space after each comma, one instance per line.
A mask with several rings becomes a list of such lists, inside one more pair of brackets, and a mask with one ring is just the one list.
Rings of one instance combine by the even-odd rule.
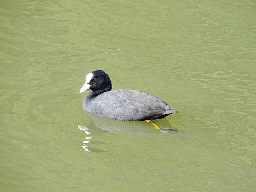
[[[83, 141], [83, 149], [90, 152], [106, 152], [101, 149], [92, 148], [95, 144], [100, 145], [102, 142], [95, 141], [95, 136], [103, 135], [106, 132], [123, 133], [128, 135], [159, 135], [164, 133], [172, 133], [177, 131], [172, 128], [166, 118], [155, 120], [159, 129], [155, 129], [151, 123], [145, 121], [120, 121], [94, 115], [84, 110], [89, 119], [89, 123], [85, 126], [78, 126], [79, 130], [87, 134], [85, 141]], [[164, 128], [163, 128], [164, 127]]]

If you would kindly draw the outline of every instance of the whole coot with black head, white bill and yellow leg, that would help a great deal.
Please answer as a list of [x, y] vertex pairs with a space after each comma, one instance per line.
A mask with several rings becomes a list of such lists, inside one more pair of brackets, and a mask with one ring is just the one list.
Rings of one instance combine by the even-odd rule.
[[110, 77], [102, 70], [89, 73], [79, 93], [88, 89], [91, 91], [84, 98], [82, 106], [98, 116], [123, 121], [147, 121], [160, 129], [152, 120], [178, 113], [152, 94], [130, 89], [111, 90]]

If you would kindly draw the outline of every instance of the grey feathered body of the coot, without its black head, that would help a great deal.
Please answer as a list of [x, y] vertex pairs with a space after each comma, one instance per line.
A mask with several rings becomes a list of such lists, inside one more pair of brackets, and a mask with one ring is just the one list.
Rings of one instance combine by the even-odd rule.
[[95, 115], [125, 121], [154, 120], [164, 118], [177, 110], [164, 101], [142, 91], [118, 89], [85, 97], [83, 108]]

